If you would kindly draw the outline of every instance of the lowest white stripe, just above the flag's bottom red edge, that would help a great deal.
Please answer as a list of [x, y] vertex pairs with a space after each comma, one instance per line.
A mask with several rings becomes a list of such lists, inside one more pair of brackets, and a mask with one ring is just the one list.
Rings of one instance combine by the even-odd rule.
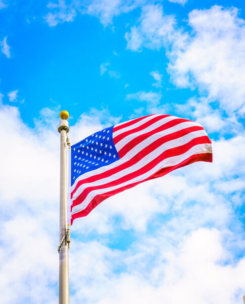
[[185, 159], [189, 158], [191, 155], [194, 154], [203, 154], [203, 153], [212, 153], [212, 147], [211, 147], [211, 143], [205, 143], [205, 144], [198, 144], [195, 145], [193, 147], [191, 147], [188, 151], [186, 151], [184, 154], [178, 155], [178, 156], [174, 156], [174, 157], [170, 157], [167, 159], [164, 159], [162, 162], [160, 162], [157, 166], [155, 166], [153, 169], [151, 169], [150, 171], [135, 177], [134, 179], [124, 182], [120, 185], [116, 185], [116, 186], [112, 186], [112, 187], [106, 187], [104, 189], [97, 189], [95, 191], [91, 191], [88, 196], [86, 197], [86, 199], [83, 201], [83, 203], [75, 206], [72, 209], [72, 214], [75, 214], [81, 210], [84, 210], [88, 204], [91, 202], [91, 200], [96, 196], [96, 195], [100, 195], [103, 193], [107, 193], [110, 191], [113, 191], [117, 188], [121, 188], [123, 186], [126, 185], [130, 185], [134, 182], [138, 182], [141, 180], [144, 180], [145, 178], [148, 178], [149, 176], [153, 175], [154, 173], [158, 172], [160, 169], [162, 168], [167, 168], [167, 167], [172, 167], [175, 166], [179, 163], [181, 163], [182, 161], [184, 161]]

